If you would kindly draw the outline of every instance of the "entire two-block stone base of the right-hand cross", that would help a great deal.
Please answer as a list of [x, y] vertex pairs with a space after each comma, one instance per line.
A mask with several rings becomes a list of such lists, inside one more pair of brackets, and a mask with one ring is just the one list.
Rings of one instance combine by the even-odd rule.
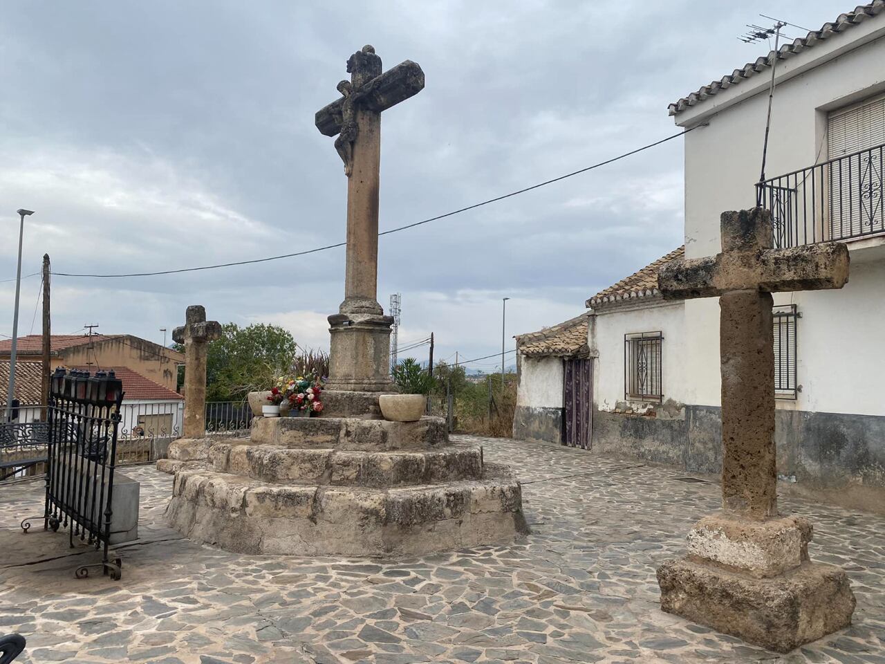
[[797, 517], [716, 515], [689, 534], [689, 555], [658, 567], [661, 608], [776, 652], [847, 627], [855, 598], [839, 567], [812, 563]]

